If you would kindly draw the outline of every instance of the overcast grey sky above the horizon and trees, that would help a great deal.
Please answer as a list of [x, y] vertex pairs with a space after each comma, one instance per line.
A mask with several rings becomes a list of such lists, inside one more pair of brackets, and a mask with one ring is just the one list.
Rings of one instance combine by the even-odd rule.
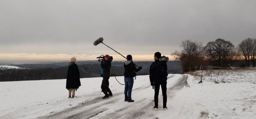
[[132, 55], [186, 39], [236, 46], [256, 38], [255, 12], [256, 0], [0, 0], [0, 54], [116, 54], [99, 37]]

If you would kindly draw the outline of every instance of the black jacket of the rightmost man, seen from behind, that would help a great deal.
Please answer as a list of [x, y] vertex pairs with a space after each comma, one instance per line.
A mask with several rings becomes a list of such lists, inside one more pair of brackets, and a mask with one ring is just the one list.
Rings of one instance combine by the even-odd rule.
[[150, 82], [163, 82], [164, 80], [167, 80], [167, 76], [168, 76], [167, 64], [165, 61], [155, 60], [155, 62], [153, 62], [150, 65], [150, 69], [149, 69]]

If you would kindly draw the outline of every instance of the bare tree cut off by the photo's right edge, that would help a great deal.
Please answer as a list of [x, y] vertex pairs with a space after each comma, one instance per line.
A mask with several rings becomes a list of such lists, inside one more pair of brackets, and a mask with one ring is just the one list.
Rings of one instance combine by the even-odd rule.
[[[254, 48], [254, 40], [251, 38], [247, 38], [243, 40], [240, 44], [238, 44], [238, 52], [244, 57], [245, 64], [247, 67], [250, 67], [250, 58], [253, 58], [255, 61], [255, 48]], [[254, 62], [255, 67], [255, 62]]]

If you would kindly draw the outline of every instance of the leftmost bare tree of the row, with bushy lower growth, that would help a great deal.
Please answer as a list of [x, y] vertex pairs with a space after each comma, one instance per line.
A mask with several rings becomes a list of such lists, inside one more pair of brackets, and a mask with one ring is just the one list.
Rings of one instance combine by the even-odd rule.
[[203, 63], [203, 45], [196, 41], [184, 40], [180, 44], [181, 51], [174, 51], [172, 55], [181, 60], [183, 71], [188, 71], [189, 67], [199, 66]]

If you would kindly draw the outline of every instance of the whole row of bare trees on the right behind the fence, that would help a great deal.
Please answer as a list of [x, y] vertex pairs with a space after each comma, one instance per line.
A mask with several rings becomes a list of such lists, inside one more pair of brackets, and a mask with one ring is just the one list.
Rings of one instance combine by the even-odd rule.
[[208, 42], [203, 47], [202, 43], [184, 40], [180, 47], [181, 51], [172, 53], [176, 59], [181, 60], [183, 71], [188, 68], [200, 65], [213, 65], [227, 67], [234, 63], [236, 59], [244, 59], [246, 66], [252, 63], [255, 67], [256, 61], [256, 39], [247, 38], [243, 40], [237, 48], [230, 42], [218, 38], [215, 41]]

